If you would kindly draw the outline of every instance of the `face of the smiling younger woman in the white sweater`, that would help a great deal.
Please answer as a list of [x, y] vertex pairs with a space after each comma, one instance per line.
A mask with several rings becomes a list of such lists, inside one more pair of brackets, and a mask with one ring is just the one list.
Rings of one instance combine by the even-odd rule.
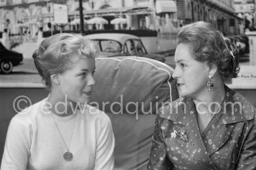
[[61, 95], [67, 95], [67, 102], [86, 104], [95, 84], [95, 59], [81, 58], [77, 63], [69, 63], [68, 67], [64, 73], [59, 74]]

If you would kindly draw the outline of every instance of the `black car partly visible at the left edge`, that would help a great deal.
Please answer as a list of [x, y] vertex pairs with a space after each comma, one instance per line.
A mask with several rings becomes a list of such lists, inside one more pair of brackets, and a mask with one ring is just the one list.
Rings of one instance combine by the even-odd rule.
[[13, 66], [21, 64], [23, 55], [13, 50], [7, 50], [0, 43], [0, 71], [4, 74], [12, 72]]

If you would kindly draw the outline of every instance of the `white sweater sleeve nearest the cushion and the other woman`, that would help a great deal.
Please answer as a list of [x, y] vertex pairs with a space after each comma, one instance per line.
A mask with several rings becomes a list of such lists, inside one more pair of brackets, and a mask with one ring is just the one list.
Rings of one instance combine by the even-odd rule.
[[115, 138], [111, 121], [97, 134], [96, 155], [93, 170], [114, 170]]

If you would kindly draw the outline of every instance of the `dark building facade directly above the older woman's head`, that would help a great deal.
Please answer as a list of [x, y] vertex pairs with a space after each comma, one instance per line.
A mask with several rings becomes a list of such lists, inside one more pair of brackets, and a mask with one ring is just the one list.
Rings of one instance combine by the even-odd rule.
[[236, 16], [233, 0], [176, 0], [176, 3], [178, 19], [185, 24], [207, 21], [227, 35], [243, 32], [243, 19]]

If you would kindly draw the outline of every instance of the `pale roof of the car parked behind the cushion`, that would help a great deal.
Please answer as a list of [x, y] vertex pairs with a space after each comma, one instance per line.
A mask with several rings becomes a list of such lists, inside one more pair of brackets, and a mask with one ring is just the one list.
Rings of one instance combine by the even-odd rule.
[[140, 39], [139, 37], [131, 34], [123, 34], [123, 33], [96, 33], [85, 35], [86, 38], [89, 39], [110, 39], [121, 42], [123, 44], [128, 39]]

